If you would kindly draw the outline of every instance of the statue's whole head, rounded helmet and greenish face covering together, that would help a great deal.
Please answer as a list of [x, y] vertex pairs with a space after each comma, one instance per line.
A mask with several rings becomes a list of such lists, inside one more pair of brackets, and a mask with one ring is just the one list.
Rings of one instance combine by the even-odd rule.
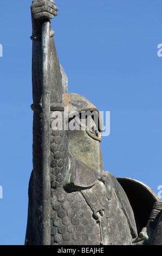
[[[68, 119], [66, 118], [69, 124], [67, 131], [69, 153], [102, 172], [103, 161], [100, 148], [102, 119], [98, 109], [86, 97], [75, 93], [63, 94], [62, 102], [68, 107], [69, 113]], [[73, 126], [77, 128], [73, 129]]]

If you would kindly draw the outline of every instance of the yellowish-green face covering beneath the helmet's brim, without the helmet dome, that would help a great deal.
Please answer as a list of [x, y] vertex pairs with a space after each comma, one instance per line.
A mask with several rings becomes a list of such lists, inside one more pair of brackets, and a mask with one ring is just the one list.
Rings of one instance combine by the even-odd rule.
[[80, 118], [75, 119], [75, 121], [80, 130], [69, 129], [67, 131], [69, 153], [81, 162], [102, 172], [103, 160], [100, 147], [100, 129], [96, 126], [92, 117], [89, 117], [88, 120], [87, 118]]

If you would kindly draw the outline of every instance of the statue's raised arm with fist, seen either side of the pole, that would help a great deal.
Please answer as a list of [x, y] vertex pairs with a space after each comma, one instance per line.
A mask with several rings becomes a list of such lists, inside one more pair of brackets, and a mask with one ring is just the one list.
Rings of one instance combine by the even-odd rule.
[[[44, 20], [53, 19], [57, 16], [59, 8], [53, 0], [40, 1], [34, 0], [31, 4], [31, 21], [33, 53], [32, 53], [32, 81], [33, 81], [33, 101], [40, 103], [42, 97], [42, 23]], [[51, 81], [51, 103], [62, 101], [62, 76], [60, 71], [60, 63], [57, 57], [54, 32], [50, 31], [50, 81]]]

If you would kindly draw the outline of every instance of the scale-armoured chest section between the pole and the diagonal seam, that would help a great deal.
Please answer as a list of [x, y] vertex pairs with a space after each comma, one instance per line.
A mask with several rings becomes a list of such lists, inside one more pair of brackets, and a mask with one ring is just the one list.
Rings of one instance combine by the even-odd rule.
[[57, 194], [51, 205], [51, 245], [100, 245], [100, 227], [81, 192]]

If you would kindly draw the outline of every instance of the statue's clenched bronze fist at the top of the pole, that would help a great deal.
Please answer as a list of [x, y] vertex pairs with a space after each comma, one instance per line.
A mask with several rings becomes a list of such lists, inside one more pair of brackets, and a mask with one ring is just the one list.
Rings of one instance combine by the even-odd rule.
[[57, 11], [59, 10], [55, 4], [56, 2], [53, 0], [34, 0], [31, 4], [31, 15], [35, 20], [53, 19], [58, 15]]

